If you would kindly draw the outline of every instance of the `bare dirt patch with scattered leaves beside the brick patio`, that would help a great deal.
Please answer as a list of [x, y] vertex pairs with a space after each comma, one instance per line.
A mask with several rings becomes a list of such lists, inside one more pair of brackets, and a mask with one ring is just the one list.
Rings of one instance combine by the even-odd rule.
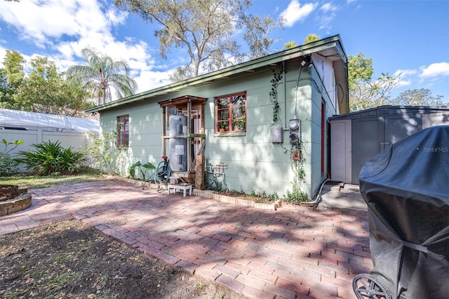
[[0, 236], [0, 298], [245, 298], [78, 220]]

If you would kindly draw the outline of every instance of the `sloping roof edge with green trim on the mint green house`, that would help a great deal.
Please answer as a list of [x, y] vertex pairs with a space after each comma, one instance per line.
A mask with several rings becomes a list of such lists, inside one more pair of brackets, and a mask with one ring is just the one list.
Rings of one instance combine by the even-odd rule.
[[129, 97], [126, 98], [121, 98], [119, 100], [107, 102], [100, 106], [92, 107], [90, 109], [87, 109], [86, 112], [100, 112], [102, 110], [119, 107], [121, 105], [128, 105], [132, 102], [149, 100], [152, 98], [156, 98], [159, 95], [166, 95], [167, 93], [178, 92], [183, 88], [210, 84], [215, 81], [220, 81], [220, 79], [233, 77], [235, 75], [244, 72], [254, 72], [254, 70], [257, 68], [266, 67], [267, 65], [274, 65], [276, 63], [288, 60], [295, 60], [311, 53], [318, 53], [319, 55], [322, 55], [323, 57], [326, 57], [327, 59], [332, 60], [334, 62], [335, 79], [344, 90], [344, 98], [342, 98], [342, 100], [339, 102], [340, 113], [349, 112], [349, 96], [347, 85], [347, 55], [344, 51], [340, 35], [330, 36], [326, 39], [320, 39], [319, 41], [314, 41], [309, 44], [304, 44], [302, 46], [290, 48], [284, 51], [280, 51], [278, 53], [257, 58], [255, 60], [243, 62], [239, 65], [226, 67], [224, 69], [219, 69], [215, 72], [203, 74], [198, 77], [186, 79], [173, 84], [168, 84], [166, 86], [154, 88], [150, 91], [145, 91], [135, 95], [130, 95]]

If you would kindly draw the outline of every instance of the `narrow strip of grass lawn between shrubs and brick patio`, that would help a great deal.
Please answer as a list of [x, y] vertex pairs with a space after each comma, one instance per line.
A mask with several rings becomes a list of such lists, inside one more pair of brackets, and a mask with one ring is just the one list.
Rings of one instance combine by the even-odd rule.
[[29, 173], [18, 173], [11, 176], [0, 177], [0, 185], [19, 185], [20, 188], [39, 189], [57, 185], [73, 185], [80, 182], [94, 182], [107, 180], [105, 175], [93, 168], [83, 168], [74, 175], [47, 175], [39, 176]]

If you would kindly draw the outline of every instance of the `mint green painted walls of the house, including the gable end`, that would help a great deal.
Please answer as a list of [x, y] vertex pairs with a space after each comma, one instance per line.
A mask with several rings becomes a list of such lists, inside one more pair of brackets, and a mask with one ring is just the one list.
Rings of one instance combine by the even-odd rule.
[[[228, 78], [214, 79], [212, 83], [182, 87], [177, 92], [170, 91], [154, 98], [141, 97], [136, 102], [100, 110], [100, 123], [107, 132], [116, 128], [117, 116], [129, 115], [129, 148], [123, 150], [124, 158], [120, 161], [118, 172], [128, 175], [129, 166], [136, 161], [152, 164], [161, 161], [163, 114], [158, 102], [193, 95], [207, 99], [202, 116], [206, 135], [206, 165], [227, 164], [225, 183], [230, 190], [276, 192], [279, 196], [291, 190], [293, 147], [289, 142], [288, 121], [294, 117], [300, 119], [306, 180], [302, 191], [307, 192], [310, 198], [314, 197], [329, 168], [327, 153], [330, 145], [326, 125], [325, 173], [321, 173], [321, 101], [326, 102], [326, 124], [328, 117], [338, 114], [339, 107], [335, 98], [333, 62], [320, 55], [314, 55], [313, 59], [314, 67], [302, 69], [300, 60], [282, 62], [285, 63], [286, 72], [277, 86], [281, 108], [278, 124], [283, 126], [282, 144], [270, 141], [273, 104], [269, 96], [273, 72], [279, 71], [281, 63], [277, 63], [277, 67], [267, 65], [255, 69], [255, 72], [243, 71]], [[246, 133], [217, 134], [215, 97], [239, 92], [246, 93]]]

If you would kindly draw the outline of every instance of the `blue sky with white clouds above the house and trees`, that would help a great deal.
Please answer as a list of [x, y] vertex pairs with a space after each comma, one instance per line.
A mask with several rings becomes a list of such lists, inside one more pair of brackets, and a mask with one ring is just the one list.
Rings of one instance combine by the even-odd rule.
[[[401, 74], [402, 91], [428, 88], [449, 102], [449, 1], [302, 1], [253, 0], [250, 12], [282, 16], [286, 28], [272, 32], [280, 51], [288, 41], [303, 44], [308, 34], [340, 34], [347, 55], [373, 58], [375, 77]], [[82, 48], [91, 46], [127, 60], [139, 91], [168, 84], [168, 74], [187, 55], [174, 49], [161, 60], [155, 25], [118, 11], [113, 0], [0, 0], [0, 63], [6, 50], [29, 62], [46, 56], [62, 72], [82, 64]], [[239, 36], [236, 36], [239, 39]]]

